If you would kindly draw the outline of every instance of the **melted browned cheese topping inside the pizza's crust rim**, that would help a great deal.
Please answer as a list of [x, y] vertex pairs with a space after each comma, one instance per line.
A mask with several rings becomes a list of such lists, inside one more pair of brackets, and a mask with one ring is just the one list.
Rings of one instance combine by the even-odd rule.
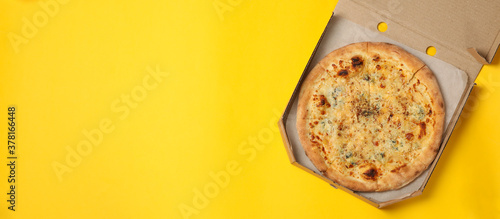
[[431, 97], [396, 60], [355, 55], [331, 63], [309, 101], [309, 141], [327, 166], [360, 180], [397, 172], [429, 144]]

